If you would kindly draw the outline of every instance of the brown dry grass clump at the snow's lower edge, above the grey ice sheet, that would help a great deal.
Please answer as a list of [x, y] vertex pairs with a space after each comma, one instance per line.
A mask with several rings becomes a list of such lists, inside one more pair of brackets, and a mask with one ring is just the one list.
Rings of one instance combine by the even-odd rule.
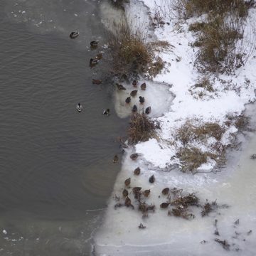
[[181, 160], [181, 170], [183, 172], [197, 169], [199, 166], [207, 162], [208, 157], [214, 160], [217, 159], [217, 155], [209, 152], [203, 152], [196, 147], [191, 147], [190, 149], [179, 149], [177, 156]]

